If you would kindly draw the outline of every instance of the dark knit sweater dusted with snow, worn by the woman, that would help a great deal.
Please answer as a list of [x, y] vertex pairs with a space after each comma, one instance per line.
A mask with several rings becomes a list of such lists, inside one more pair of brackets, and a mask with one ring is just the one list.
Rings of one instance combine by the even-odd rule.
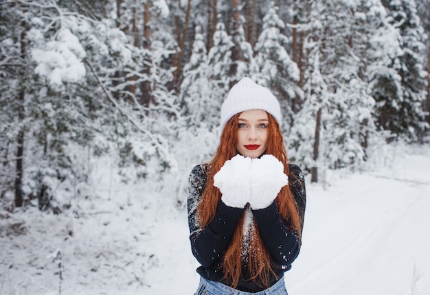
[[[302, 225], [306, 207], [306, 190], [304, 176], [297, 165], [289, 165], [289, 187], [297, 202]], [[194, 257], [201, 263], [197, 272], [205, 279], [218, 281], [229, 285], [223, 279], [223, 255], [229, 246], [236, 224], [246, 209], [228, 207], [219, 202], [216, 215], [205, 228], [199, 226], [197, 207], [205, 189], [206, 176], [209, 165], [197, 165], [192, 169], [188, 186], [188, 226], [190, 227], [190, 241]], [[258, 224], [264, 245], [271, 254], [271, 264], [275, 266], [275, 275], [269, 277], [270, 285], [274, 285], [286, 272], [291, 269], [291, 263], [297, 258], [300, 241], [297, 233], [288, 229], [282, 221], [278, 206], [273, 202], [269, 207], [252, 210], [253, 218]], [[242, 268], [242, 270], [246, 268]], [[260, 292], [265, 289], [249, 279], [249, 274], [242, 273], [236, 289], [244, 292]]]

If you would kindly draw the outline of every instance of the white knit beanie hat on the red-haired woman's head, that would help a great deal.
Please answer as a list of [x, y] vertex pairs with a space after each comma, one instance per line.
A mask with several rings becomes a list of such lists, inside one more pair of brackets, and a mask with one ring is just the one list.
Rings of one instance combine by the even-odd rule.
[[220, 130], [231, 117], [244, 110], [265, 110], [281, 123], [281, 108], [268, 88], [257, 85], [248, 77], [242, 78], [231, 87], [223, 106], [221, 106]]

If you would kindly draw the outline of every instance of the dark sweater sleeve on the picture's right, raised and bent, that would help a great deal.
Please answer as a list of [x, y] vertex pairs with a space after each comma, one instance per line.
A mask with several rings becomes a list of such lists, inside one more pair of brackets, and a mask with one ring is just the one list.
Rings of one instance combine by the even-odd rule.
[[[306, 191], [304, 176], [299, 167], [290, 165], [290, 189], [297, 203], [299, 217], [303, 225], [306, 207]], [[260, 235], [273, 261], [282, 269], [287, 269], [297, 258], [301, 241], [298, 233], [291, 231], [280, 217], [278, 206], [273, 202], [269, 207], [253, 210], [253, 216], [258, 224]]]

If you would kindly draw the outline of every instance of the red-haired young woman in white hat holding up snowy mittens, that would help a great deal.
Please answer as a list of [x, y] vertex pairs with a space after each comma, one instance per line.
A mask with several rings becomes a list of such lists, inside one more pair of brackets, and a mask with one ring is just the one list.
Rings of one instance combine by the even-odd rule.
[[288, 164], [280, 121], [278, 100], [249, 78], [221, 107], [216, 154], [189, 180], [196, 294], [287, 294], [284, 272], [302, 244], [306, 192], [302, 171]]

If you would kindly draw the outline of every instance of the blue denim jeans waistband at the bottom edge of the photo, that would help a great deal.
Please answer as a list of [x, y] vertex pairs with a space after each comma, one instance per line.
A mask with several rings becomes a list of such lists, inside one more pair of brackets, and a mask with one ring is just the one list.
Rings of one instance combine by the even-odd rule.
[[223, 283], [209, 281], [203, 277], [200, 278], [199, 289], [194, 295], [288, 295], [285, 289], [284, 277], [278, 283], [258, 293], [242, 292]]

